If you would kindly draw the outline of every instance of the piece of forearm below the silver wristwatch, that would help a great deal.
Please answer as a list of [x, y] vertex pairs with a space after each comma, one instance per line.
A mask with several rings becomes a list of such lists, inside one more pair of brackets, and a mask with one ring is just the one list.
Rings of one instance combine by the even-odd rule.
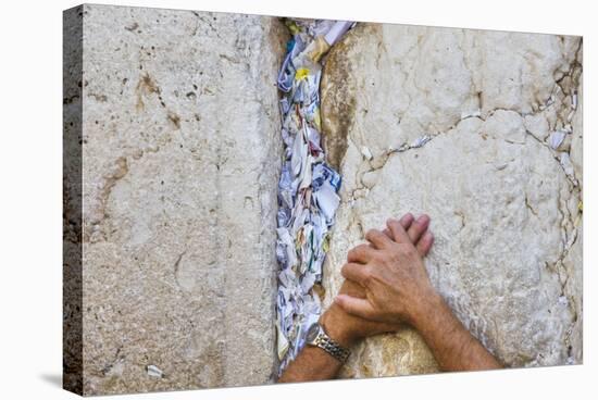
[[324, 350], [306, 346], [287, 366], [278, 383], [332, 379], [340, 365], [338, 360]]

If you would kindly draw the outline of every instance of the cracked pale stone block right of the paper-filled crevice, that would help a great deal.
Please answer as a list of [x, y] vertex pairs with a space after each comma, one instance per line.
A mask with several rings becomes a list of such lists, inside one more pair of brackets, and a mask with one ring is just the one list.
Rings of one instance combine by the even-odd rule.
[[[350, 32], [322, 84], [324, 137], [344, 177], [325, 302], [364, 232], [425, 212], [433, 284], [502, 363], [582, 362], [581, 57], [576, 37], [377, 24]], [[550, 133], [568, 117], [572, 133], [552, 150]], [[424, 135], [432, 139], [421, 148], [388, 151]], [[559, 162], [569, 152], [570, 176]], [[406, 326], [358, 346], [342, 375], [437, 370]]]

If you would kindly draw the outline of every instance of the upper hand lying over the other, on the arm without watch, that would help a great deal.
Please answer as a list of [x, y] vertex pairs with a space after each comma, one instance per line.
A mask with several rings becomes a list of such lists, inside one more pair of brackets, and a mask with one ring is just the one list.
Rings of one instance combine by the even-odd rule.
[[422, 250], [429, 251], [433, 241], [428, 225], [427, 215], [407, 229], [401, 222], [388, 220], [387, 234], [393, 239], [383, 232], [369, 230], [365, 238], [371, 245], [350, 250], [341, 270], [342, 276], [363, 287], [365, 296], [339, 293], [335, 304], [362, 320], [416, 326], [439, 300], [422, 260]]

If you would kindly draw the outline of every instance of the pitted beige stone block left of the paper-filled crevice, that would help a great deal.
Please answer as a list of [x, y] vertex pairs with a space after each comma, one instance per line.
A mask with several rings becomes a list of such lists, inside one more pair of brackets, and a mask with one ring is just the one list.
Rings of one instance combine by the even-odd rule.
[[83, 21], [84, 392], [271, 382], [286, 28], [104, 5]]

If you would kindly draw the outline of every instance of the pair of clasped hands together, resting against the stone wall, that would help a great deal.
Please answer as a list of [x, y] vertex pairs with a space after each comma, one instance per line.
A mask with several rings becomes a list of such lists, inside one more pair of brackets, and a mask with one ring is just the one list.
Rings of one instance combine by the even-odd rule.
[[401, 323], [418, 326], [438, 299], [423, 262], [434, 242], [428, 226], [427, 215], [390, 218], [385, 229], [367, 232], [367, 243], [349, 251], [341, 268], [346, 280], [321, 317], [331, 337], [350, 346], [396, 332]]

